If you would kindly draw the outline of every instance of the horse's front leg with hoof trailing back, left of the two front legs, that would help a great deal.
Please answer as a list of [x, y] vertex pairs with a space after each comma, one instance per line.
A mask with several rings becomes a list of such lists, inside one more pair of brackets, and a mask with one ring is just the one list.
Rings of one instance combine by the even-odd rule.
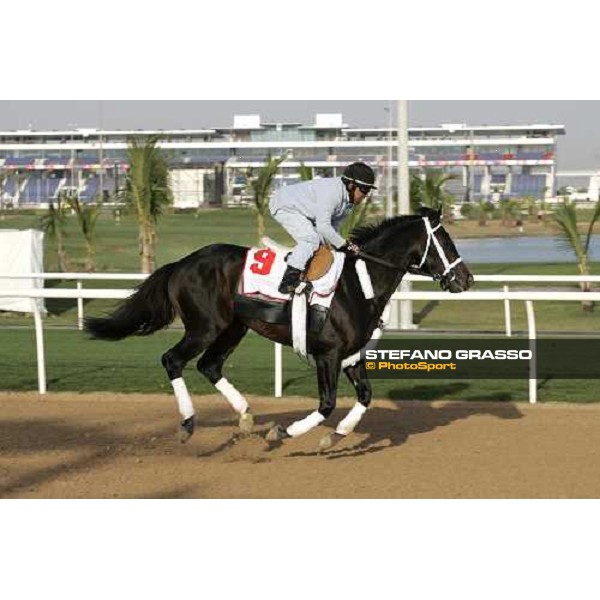
[[335, 408], [337, 384], [340, 376], [341, 360], [337, 353], [315, 357], [317, 381], [319, 384], [319, 409], [304, 419], [295, 421], [289, 427], [275, 425], [267, 433], [267, 441], [277, 442], [286, 438], [301, 436], [320, 425]]

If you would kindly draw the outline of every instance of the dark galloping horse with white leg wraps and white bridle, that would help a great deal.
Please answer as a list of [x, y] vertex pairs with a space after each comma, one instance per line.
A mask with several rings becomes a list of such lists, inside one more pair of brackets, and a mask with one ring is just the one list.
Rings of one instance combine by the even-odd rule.
[[[462, 292], [473, 276], [440, 223], [440, 213], [421, 209], [419, 215], [395, 217], [377, 225], [355, 229], [351, 238], [364, 252], [374, 298], [365, 298], [348, 256], [329, 316], [318, 333], [307, 333], [308, 352], [317, 367], [319, 408], [289, 427], [273, 427], [269, 441], [301, 435], [329, 417], [335, 408], [338, 378], [344, 359], [356, 355], [378, 327], [381, 314], [405, 273], [433, 277], [442, 289]], [[252, 416], [246, 399], [223, 377], [223, 364], [248, 329], [292, 344], [291, 326], [272, 324], [237, 314], [234, 298], [248, 248], [212, 244], [181, 260], [164, 265], [107, 318], [88, 318], [86, 330], [95, 338], [120, 340], [130, 335], [149, 335], [169, 325], [176, 316], [185, 326], [183, 338], [162, 356], [173, 385], [179, 410], [182, 439], [194, 430], [194, 408], [182, 378], [186, 364], [203, 352], [198, 370], [226, 397], [240, 415], [240, 428], [249, 432]], [[371, 257], [372, 260], [369, 260]], [[346, 361], [347, 362], [347, 361]], [[371, 401], [371, 385], [363, 360], [345, 366], [357, 403], [339, 423], [335, 433], [322, 440], [330, 446], [349, 434]]]

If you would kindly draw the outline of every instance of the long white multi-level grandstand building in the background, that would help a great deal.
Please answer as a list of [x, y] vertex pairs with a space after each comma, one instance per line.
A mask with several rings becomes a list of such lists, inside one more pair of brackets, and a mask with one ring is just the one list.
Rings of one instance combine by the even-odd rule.
[[[448, 191], [458, 202], [550, 198], [556, 189], [557, 136], [563, 125], [466, 125], [409, 129], [409, 167], [455, 174]], [[247, 177], [269, 156], [285, 156], [277, 185], [296, 181], [302, 164], [315, 176], [335, 176], [356, 160], [379, 176], [379, 198], [393, 193], [396, 130], [354, 128], [341, 114], [317, 114], [312, 124], [264, 123], [236, 115], [230, 127], [195, 130], [0, 132], [0, 199], [4, 206], [44, 206], [60, 190], [84, 201], [114, 201], [127, 170], [127, 140], [160, 136], [179, 207], [239, 204]]]

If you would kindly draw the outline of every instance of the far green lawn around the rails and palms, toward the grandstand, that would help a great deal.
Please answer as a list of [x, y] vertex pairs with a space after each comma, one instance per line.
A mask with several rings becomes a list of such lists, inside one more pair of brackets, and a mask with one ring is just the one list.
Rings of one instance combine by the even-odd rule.
[[[39, 226], [39, 214], [9, 214], [0, 221], [0, 228], [35, 228]], [[267, 233], [277, 241], [290, 243], [283, 229], [272, 219], [267, 219]], [[159, 265], [177, 260], [206, 244], [230, 242], [241, 245], [256, 244], [255, 214], [249, 209], [207, 209], [198, 213], [166, 214], [158, 224], [157, 262]], [[507, 242], [511, 243], [511, 242]], [[81, 269], [84, 251], [81, 236], [74, 218], [69, 219], [67, 251], [74, 261], [74, 267]], [[52, 240], [46, 240], [46, 270], [56, 271], [56, 258]], [[133, 215], [124, 215], [116, 223], [112, 214], [105, 213], [98, 222], [97, 262], [99, 272], [139, 272], [137, 256], [137, 223]], [[592, 272], [600, 272], [599, 264], [592, 264]], [[473, 272], [510, 273], [510, 274], [552, 274], [575, 275], [574, 263], [555, 264], [482, 264], [471, 265]], [[48, 286], [74, 287], [74, 282], [48, 282]], [[133, 282], [86, 282], [85, 287], [122, 287], [134, 285]], [[496, 288], [499, 284], [479, 284], [479, 289]], [[513, 289], [530, 287], [528, 284], [513, 286]], [[558, 287], [558, 286], [553, 286]], [[564, 286], [568, 288], [569, 286]], [[415, 289], [437, 289], [431, 283], [415, 285]], [[572, 286], [571, 286], [572, 289]], [[77, 321], [76, 302], [73, 300], [47, 300], [49, 325], [74, 325]], [[85, 302], [86, 314], [99, 314], [109, 311], [115, 302], [90, 300]], [[416, 320], [424, 329], [477, 329], [480, 331], [503, 331], [504, 306], [502, 302], [415, 302]], [[468, 310], [465, 310], [465, 307]], [[540, 332], [550, 331], [600, 331], [600, 316], [597, 313], [586, 314], [578, 303], [544, 302], [536, 303], [536, 320]], [[526, 328], [523, 303], [512, 303], [513, 329]], [[0, 313], [2, 325], [28, 325], [30, 317], [15, 313]]]

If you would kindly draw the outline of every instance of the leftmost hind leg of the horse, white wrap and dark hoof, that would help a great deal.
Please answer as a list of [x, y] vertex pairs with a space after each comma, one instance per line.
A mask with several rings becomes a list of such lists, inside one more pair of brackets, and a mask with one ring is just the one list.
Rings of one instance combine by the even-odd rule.
[[170, 350], [167, 350], [162, 356], [162, 365], [167, 371], [173, 391], [175, 392], [175, 398], [177, 398], [177, 405], [179, 407], [179, 413], [183, 418], [181, 423], [181, 441], [186, 442], [191, 435], [194, 433], [194, 406], [192, 399], [188, 392], [185, 381], [183, 380], [182, 374], [185, 365], [197, 356], [203, 347], [206, 346], [206, 338], [199, 336], [198, 334], [192, 334], [190, 332], [185, 333], [183, 338], [173, 346]]

